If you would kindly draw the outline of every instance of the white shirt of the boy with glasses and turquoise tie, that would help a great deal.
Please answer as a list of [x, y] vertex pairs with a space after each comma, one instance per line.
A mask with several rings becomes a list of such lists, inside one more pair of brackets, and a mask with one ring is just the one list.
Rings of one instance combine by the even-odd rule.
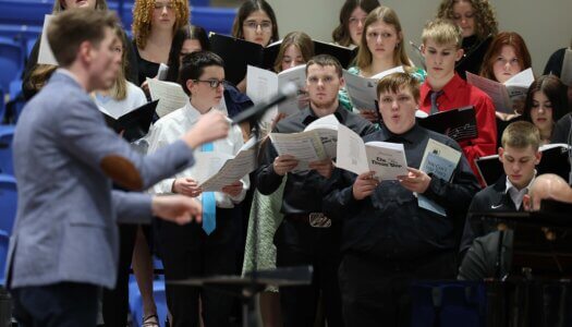
[[[177, 109], [173, 112], [170, 112], [169, 114], [159, 119], [149, 132], [148, 153], [154, 153], [157, 149], [181, 138], [181, 136], [184, 133], [186, 133], [194, 126], [194, 124], [198, 121], [199, 118], [200, 112], [197, 109], [195, 109], [191, 105], [191, 102], [187, 101], [185, 107]], [[227, 138], [217, 140], [212, 142], [212, 150], [216, 153], [222, 153], [234, 156], [241, 149], [243, 144], [244, 141], [242, 138], [242, 131], [239, 126], [234, 125], [230, 129], [229, 136]], [[155, 194], [172, 193], [173, 182], [177, 178], [193, 178], [194, 175], [197, 175], [196, 165], [177, 173], [173, 178], [162, 180], [161, 182], [155, 184], [149, 190], [149, 192]], [[226, 193], [215, 192], [217, 207], [232, 208], [235, 204], [239, 204], [244, 199], [246, 190], [248, 190], [250, 186], [248, 175], [242, 178], [241, 181], [243, 184], [243, 190], [241, 194], [239, 194], [235, 197], [232, 197]], [[198, 196], [197, 198], [200, 199], [200, 196]]]

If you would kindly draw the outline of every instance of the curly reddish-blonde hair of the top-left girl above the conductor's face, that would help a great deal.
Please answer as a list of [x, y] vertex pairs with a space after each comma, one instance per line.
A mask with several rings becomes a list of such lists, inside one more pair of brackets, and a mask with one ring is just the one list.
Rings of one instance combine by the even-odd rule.
[[[133, 25], [131, 26], [137, 48], [145, 49], [147, 38], [151, 32], [153, 11], [156, 0], [137, 0], [133, 5]], [[175, 22], [173, 34], [177, 29], [188, 24], [188, 2], [186, 0], [170, 0], [174, 4]]]

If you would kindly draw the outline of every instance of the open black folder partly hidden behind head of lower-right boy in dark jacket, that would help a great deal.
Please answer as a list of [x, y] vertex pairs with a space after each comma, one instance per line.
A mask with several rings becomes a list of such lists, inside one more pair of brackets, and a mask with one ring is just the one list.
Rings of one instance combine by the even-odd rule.
[[[568, 181], [570, 173], [569, 146], [563, 143], [547, 144], [540, 146], [540, 152], [543, 153], [543, 158], [536, 166], [538, 174], [556, 173]], [[478, 173], [487, 185], [495, 184], [504, 175], [502, 162], [500, 162], [498, 155], [475, 159], [475, 164]]]

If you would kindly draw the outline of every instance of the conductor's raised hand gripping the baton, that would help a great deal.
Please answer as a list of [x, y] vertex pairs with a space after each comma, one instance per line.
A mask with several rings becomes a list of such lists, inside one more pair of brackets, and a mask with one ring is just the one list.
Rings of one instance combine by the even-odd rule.
[[184, 136], [184, 141], [192, 148], [203, 143], [208, 143], [229, 135], [230, 120], [218, 110], [210, 110], [196, 122], [196, 124]]

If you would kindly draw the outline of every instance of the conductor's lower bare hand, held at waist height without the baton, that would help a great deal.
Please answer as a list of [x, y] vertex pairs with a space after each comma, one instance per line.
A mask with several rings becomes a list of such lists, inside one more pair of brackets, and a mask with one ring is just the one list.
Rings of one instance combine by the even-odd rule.
[[179, 225], [203, 220], [200, 202], [184, 195], [155, 195], [151, 210], [154, 216]]

